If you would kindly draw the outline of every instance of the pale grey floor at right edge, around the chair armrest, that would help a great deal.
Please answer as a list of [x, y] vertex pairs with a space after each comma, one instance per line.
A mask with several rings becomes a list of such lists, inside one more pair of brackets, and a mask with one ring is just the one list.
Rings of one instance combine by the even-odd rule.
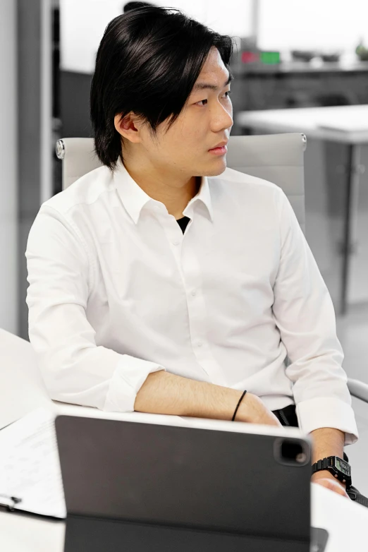
[[[337, 334], [345, 353], [343, 368], [348, 378], [368, 383], [368, 304], [350, 306], [336, 320]], [[359, 440], [345, 447], [352, 467], [352, 484], [368, 496], [368, 403], [352, 397]]]

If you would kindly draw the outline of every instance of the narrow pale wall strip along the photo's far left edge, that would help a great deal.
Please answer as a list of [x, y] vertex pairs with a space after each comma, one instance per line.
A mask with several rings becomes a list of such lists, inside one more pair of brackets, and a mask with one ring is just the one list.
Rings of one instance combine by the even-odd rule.
[[0, 0], [0, 328], [18, 333], [16, 1]]

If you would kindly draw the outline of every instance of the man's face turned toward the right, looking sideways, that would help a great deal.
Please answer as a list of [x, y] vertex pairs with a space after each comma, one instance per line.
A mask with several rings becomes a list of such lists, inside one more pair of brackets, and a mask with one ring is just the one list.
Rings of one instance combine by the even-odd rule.
[[214, 155], [209, 150], [228, 140], [233, 126], [227, 80], [228, 70], [219, 50], [213, 47], [195, 84], [215, 85], [218, 90], [193, 88], [171, 128], [165, 133], [166, 121], [159, 125], [157, 140], [152, 140], [148, 129], [141, 127], [141, 145], [157, 169], [174, 170], [188, 178], [216, 176], [226, 169], [226, 154]]

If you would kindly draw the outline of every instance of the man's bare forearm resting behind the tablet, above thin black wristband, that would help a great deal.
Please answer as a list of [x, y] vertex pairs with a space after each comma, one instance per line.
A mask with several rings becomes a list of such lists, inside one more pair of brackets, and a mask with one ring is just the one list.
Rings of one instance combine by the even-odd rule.
[[[243, 391], [161, 370], [148, 375], [137, 392], [134, 409], [152, 414], [231, 420], [242, 395]], [[247, 395], [242, 403], [246, 398]]]

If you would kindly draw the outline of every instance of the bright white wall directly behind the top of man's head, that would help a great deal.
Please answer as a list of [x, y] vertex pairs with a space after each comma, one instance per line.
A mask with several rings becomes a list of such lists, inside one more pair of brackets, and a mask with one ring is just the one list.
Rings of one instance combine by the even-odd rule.
[[[1, 1], [1, 0], [0, 0]], [[93, 73], [99, 42], [111, 19], [123, 13], [128, 0], [60, 0], [61, 68]], [[157, 6], [179, 8], [204, 25], [231, 36], [252, 32], [254, 0], [149, 0]]]

